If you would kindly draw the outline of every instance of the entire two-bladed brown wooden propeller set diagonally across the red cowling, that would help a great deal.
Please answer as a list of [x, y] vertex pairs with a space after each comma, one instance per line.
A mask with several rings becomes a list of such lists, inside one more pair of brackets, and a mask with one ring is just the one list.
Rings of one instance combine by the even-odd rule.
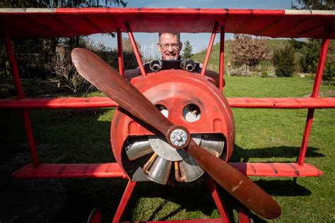
[[[77, 48], [71, 52], [71, 58], [83, 78], [130, 114], [163, 133], [168, 142], [170, 133], [175, 128], [187, 131], [165, 118], [139, 90], [93, 52]], [[188, 131], [187, 134], [189, 135]], [[188, 140], [184, 147], [202, 169], [250, 210], [266, 219], [275, 219], [281, 215], [278, 203], [240, 171], [204, 150], [194, 140]]]

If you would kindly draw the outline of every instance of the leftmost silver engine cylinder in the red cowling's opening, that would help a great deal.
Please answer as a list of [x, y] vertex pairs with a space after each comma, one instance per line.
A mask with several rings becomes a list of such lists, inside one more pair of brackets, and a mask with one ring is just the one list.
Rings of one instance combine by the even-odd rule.
[[129, 138], [124, 145], [129, 160], [138, 159], [153, 152], [148, 136]]

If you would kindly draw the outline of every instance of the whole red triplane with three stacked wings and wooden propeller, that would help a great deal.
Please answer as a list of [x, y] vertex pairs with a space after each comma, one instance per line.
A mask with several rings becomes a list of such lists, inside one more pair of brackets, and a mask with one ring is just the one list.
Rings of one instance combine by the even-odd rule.
[[[335, 108], [335, 99], [319, 98], [329, 40], [335, 37], [334, 11], [184, 9], [184, 8], [15, 8], [1, 9], [0, 22], [11, 65], [16, 100], [0, 100], [1, 109], [21, 109], [33, 164], [13, 173], [29, 178], [128, 179], [113, 222], [119, 222], [136, 181], [189, 182], [206, 172], [208, 187], [222, 219], [228, 215], [218, 196], [216, 181], [242, 204], [266, 219], [281, 215], [281, 207], [247, 176], [320, 176], [322, 171], [305, 163], [307, 142], [315, 109]], [[12, 38], [73, 37], [117, 32], [119, 73], [86, 49], [75, 49], [77, 71], [107, 97], [42, 98], [23, 95]], [[122, 32], [127, 32], [141, 76], [124, 79]], [[141, 61], [133, 32], [210, 32], [211, 38], [199, 73], [179, 64], [155, 66], [148, 72]], [[216, 33], [220, 33], [219, 87], [206, 78], [206, 67]], [[322, 39], [312, 94], [307, 98], [223, 97], [225, 32], [265, 37]], [[160, 62], [159, 62], [160, 63]], [[176, 64], [176, 63], [175, 63]], [[156, 64], [157, 65], [157, 64]], [[183, 68], [181, 68], [183, 67]], [[209, 78], [210, 79], [210, 78]], [[40, 164], [29, 120], [30, 109], [82, 109], [117, 107], [111, 126], [116, 163]], [[231, 107], [257, 109], [308, 109], [298, 162], [232, 163], [235, 126]], [[99, 222], [93, 212], [90, 221]], [[205, 221], [205, 220], [204, 220]], [[240, 221], [249, 222], [245, 213]], [[213, 222], [213, 221], [212, 221]], [[216, 221], [215, 221], [216, 222]]]

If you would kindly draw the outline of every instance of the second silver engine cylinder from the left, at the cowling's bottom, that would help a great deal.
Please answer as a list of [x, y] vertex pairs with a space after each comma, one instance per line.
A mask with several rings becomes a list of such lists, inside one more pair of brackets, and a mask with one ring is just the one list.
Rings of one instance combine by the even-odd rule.
[[156, 183], [166, 184], [170, 176], [171, 167], [172, 162], [157, 156], [143, 173], [148, 176], [148, 179]]

